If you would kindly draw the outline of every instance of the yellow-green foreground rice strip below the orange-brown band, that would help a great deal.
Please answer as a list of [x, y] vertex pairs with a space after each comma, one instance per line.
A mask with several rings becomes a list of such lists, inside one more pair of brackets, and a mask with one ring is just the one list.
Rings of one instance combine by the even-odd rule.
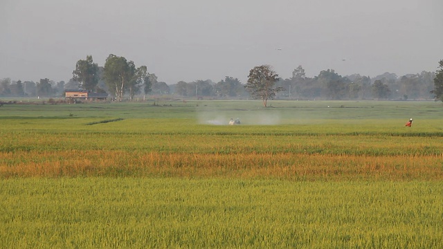
[[14, 178], [5, 248], [441, 248], [441, 181]]

